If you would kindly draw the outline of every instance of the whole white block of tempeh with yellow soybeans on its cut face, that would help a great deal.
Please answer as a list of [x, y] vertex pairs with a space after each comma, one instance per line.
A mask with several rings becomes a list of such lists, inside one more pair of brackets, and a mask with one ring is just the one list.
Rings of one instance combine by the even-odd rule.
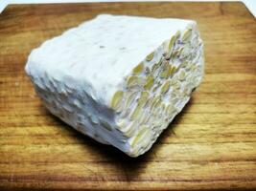
[[188, 102], [203, 65], [195, 21], [105, 14], [44, 42], [26, 73], [52, 114], [137, 157]]

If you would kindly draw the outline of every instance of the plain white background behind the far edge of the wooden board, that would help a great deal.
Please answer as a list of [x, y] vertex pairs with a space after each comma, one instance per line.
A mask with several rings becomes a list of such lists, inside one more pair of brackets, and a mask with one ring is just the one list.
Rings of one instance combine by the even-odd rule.
[[[38, 3], [77, 3], [77, 2], [125, 2], [130, 0], [0, 0], [0, 13], [9, 4], [38, 4]], [[131, 0], [136, 2], [136, 0]], [[138, 1], [154, 1], [154, 0], [137, 0]], [[180, 1], [180, 0], [162, 0], [162, 1]], [[184, 1], [184, 0], [181, 0]], [[185, 0], [185, 1], [195, 1], [195, 0]], [[214, 0], [208, 0], [214, 1]], [[225, 0], [230, 1], [230, 0]], [[249, 11], [256, 17], [256, 0], [241, 0]]]

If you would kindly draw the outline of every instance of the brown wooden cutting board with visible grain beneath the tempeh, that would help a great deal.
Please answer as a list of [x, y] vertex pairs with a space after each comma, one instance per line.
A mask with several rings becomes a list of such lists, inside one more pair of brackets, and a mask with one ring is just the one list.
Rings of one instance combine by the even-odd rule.
[[[46, 39], [99, 13], [195, 19], [205, 77], [150, 152], [130, 159], [53, 117], [24, 73]], [[10, 6], [0, 15], [0, 190], [256, 189], [256, 22], [242, 3]]]

